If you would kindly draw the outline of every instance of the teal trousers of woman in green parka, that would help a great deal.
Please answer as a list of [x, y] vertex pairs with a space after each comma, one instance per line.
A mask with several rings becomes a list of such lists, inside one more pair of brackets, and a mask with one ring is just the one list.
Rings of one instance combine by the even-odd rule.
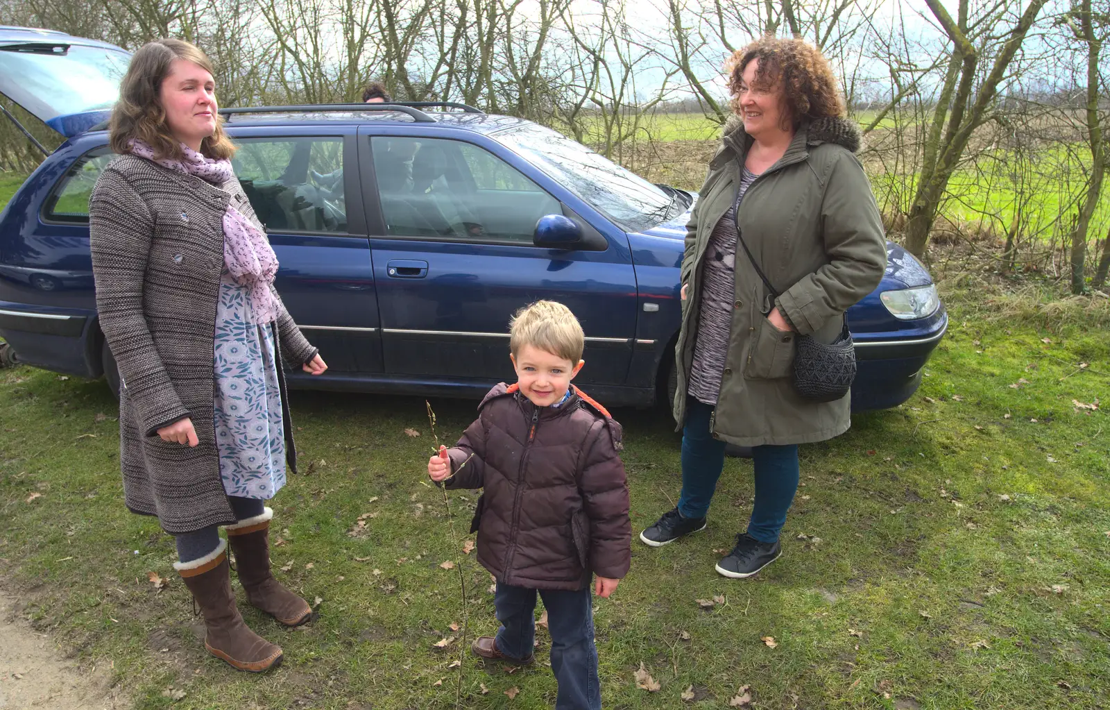
[[[713, 407], [693, 397], [686, 400], [683, 429], [683, 492], [678, 512], [684, 518], [704, 518], [725, 467], [725, 442], [713, 438]], [[756, 496], [748, 534], [760, 542], [775, 542], [786, 524], [786, 511], [798, 490], [797, 444], [751, 448]]]

